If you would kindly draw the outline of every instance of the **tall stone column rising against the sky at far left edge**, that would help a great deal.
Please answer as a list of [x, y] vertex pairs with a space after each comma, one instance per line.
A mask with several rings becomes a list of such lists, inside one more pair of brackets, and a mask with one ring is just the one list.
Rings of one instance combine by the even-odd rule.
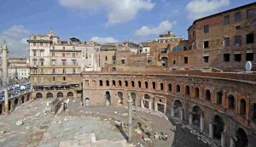
[[2, 61], [2, 68], [3, 68], [3, 91], [4, 91], [4, 113], [9, 113], [9, 106], [8, 106], [8, 48], [6, 45], [6, 41], [3, 41], [2, 45], [3, 50], [3, 61]]

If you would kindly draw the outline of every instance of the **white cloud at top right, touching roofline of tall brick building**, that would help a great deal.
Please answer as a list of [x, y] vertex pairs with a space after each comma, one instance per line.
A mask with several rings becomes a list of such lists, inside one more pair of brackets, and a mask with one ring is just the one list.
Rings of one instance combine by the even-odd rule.
[[230, 0], [193, 0], [186, 6], [190, 19], [199, 19], [230, 5]]

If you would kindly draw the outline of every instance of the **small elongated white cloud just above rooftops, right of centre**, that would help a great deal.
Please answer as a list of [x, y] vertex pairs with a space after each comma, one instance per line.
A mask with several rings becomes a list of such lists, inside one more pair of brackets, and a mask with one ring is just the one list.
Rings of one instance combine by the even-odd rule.
[[139, 37], [158, 35], [160, 33], [172, 30], [172, 25], [175, 23], [175, 21], [171, 22], [169, 20], [165, 20], [160, 22], [157, 27], [142, 26], [139, 30], [135, 31], [135, 35]]

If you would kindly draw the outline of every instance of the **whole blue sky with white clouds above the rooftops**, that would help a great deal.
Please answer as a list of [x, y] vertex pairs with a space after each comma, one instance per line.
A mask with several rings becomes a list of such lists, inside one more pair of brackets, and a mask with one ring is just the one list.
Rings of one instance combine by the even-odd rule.
[[187, 38], [194, 20], [254, 0], [1, 0], [0, 43], [28, 56], [27, 38], [49, 29], [61, 40], [143, 42], [173, 31]]

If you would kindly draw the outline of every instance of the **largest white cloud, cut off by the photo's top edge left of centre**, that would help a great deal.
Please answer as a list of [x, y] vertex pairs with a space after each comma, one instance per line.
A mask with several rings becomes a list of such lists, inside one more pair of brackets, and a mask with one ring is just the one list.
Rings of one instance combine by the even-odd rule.
[[104, 9], [108, 13], [108, 25], [128, 22], [136, 18], [140, 10], [151, 10], [151, 0], [59, 0], [61, 6], [74, 10], [97, 11]]

